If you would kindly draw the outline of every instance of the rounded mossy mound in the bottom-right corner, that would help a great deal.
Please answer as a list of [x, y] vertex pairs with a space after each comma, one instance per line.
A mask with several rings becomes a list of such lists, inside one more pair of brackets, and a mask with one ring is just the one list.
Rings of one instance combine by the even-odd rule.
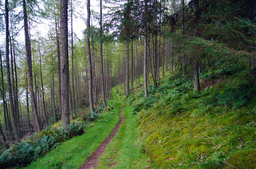
[[228, 158], [224, 169], [254, 169], [256, 168], [255, 159], [256, 149], [240, 150]]

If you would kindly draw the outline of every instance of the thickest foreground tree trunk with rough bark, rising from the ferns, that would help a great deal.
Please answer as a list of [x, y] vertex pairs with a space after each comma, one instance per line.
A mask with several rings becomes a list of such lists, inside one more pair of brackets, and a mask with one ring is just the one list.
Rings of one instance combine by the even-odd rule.
[[60, 0], [60, 71], [61, 110], [63, 128], [68, 131], [69, 119], [69, 57], [68, 57], [68, 0]]

